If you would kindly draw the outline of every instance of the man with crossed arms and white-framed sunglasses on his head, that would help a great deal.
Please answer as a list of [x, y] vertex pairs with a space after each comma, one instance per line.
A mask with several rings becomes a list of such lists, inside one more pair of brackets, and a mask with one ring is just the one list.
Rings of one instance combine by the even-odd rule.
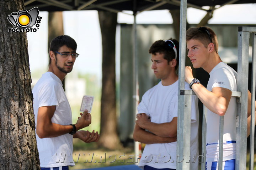
[[[178, 46], [175, 39], [158, 40], [149, 49], [156, 78], [161, 81], [145, 92], [138, 106], [133, 137], [145, 143], [139, 167], [144, 170], [176, 169], [178, 113]], [[185, 83], [185, 88], [190, 90]], [[190, 169], [198, 169], [198, 98], [192, 97]]]

